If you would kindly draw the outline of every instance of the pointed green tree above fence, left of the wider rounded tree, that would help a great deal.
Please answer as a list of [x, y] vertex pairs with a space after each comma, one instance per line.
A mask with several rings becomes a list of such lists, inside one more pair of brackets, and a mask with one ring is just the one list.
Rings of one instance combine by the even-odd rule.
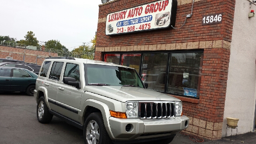
[[24, 36], [25, 40], [17, 41], [17, 43], [25, 44], [28, 46], [39, 46], [39, 41], [34, 36], [35, 34], [32, 31], [27, 32], [26, 36]]

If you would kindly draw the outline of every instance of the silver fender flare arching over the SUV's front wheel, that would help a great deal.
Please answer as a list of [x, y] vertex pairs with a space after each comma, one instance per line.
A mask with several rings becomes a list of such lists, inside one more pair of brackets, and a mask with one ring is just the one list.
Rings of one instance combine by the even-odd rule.
[[109, 124], [109, 118], [110, 118], [110, 112], [109, 112], [109, 108], [108, 106], [103, 103], [103, 102], [100, 102], [98, 100], [94, 100], [94, 99], [87, 99], [83, 106], [82, 106], [82, 111], [80, 112], [80, 118], [81, 118], [81, 121], [82, 124], [84, 125], [84, 119], [83, 119], [83, 116], [86, 112], [86, 108], [88, 106], [92, 106], [94, 108], [97, 108], [100, 110], [101, 114], [102, 114], [102, 117], [103, 117], [103, 121], [104, 121], [104, 125], [105, 125], [105, 128], [108, 132], [108, 135], [110, 136], [111, 139], [116, 139], [111, 131], [111, 128], [110, 128], [110, 124]]

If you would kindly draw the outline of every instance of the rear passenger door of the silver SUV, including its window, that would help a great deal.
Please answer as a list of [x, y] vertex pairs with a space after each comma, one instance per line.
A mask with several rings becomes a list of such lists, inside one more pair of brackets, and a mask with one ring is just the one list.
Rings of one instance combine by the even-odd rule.
[[53, 62], [48, 79], [46, 80], [46, 89], [48, 92], [48, 102], [52, 110], [60, 112], [57, 102], [58, 87], [60, 87], [60, 75], [64, 62]]

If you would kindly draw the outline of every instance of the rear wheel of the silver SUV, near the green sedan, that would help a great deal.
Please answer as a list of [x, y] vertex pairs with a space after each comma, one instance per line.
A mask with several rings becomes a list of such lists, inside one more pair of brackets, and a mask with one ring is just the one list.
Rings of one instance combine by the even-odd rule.
[[44, 96], [39, 98], [39, 102], [36, 106], [36, 116], [38, 122], [42, 124], [48, 124], [52, 120], [52, 114], [50, 114], [49, 109], [46, 105], [46, 102], [44, 100]]

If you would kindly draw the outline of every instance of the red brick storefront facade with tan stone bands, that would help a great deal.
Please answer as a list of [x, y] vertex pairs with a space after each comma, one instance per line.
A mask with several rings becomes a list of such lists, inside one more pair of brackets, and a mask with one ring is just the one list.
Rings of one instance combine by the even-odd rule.
[[[106, 57], [112, 54], [115, 58], [117, 56], [120, 59], [119, 64], [122, 64], [123, 56], [140, 54], [137, 70], [143, 75], [143, 67], [148, 66], [142, 62], [146, 54], [162, 52], [170, 58], [177, 53], [202, 52], [196, 87], [198, 96], [190, 97], [168, 92], [170, 78], [165, 80], [162, 92], [182, 100], [183, 114], [190, 118], [186, 133], [211, 140], [221, 138], [226, 125], [223, 123], [224, 108], [236, 0], [194, 0], [193, 15], [187, 18], [182, 28], [180, 27], [184, 24], [186, 15], [191, 12], [193, 0], [177, 0], [175, 27], [180, 29], [166, 28], [110, 36], [105, 34], [107, 14], [150, 2], [156, 0], [114, 0], [99, 5], [94, 59], [109, 62]], [[222, 13], [221, 23], [202, 25], [203, 16], [218, 13]], [[167, 62], [168, 66], [171, 67], [170, 59]], [[170, 76], [170, 67], [166, 69], [165, 77]], [[185, 74], [187, 72], [184, 71], [182, 84], [185, 82]]]

